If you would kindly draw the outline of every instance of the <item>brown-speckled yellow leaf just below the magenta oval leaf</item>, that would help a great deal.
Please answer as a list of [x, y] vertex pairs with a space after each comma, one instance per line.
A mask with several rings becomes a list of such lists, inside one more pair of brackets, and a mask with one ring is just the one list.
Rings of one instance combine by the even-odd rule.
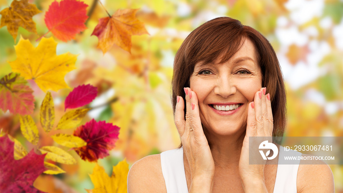
[[90, 109], [76, 109], [65, 113], [58, 122], [56, 129], [72, 129], [76, 127]]

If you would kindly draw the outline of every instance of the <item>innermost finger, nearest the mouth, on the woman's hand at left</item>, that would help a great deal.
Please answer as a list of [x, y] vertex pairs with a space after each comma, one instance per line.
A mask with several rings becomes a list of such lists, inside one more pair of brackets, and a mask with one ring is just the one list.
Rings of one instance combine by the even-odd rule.
[[195, 135], [195, 137], [205, 137], [204, 131], [202, 130], [201, 120], [199, 115], [199, 105], [196, 93], [190, 90], [190, 98], [191, 98], [191, 121], [190, 127], [193, 129], [191, 133]]

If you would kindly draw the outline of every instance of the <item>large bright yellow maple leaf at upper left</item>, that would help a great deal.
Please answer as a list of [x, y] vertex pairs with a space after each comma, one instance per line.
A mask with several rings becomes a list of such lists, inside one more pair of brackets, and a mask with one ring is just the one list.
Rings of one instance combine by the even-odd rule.
[[26, 80], [33, 79], [44, 92], [69, 88], [64, 77], [75, 69], [76, 55], [56, 55], [56, 46], [53, 37], [43, 38], [37, 48], [21, 38], [15, 46], [17, 59], [9, 62], [12, 71], [20, 73]]

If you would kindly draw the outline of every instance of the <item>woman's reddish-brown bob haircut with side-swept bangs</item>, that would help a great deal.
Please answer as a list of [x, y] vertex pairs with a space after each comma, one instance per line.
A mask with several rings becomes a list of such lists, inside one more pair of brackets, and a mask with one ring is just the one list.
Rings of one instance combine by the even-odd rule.
[[177, 51], [172, 76], [173, 113], [175, 115], [176, 96], [185, 98], [183, 88], [190, 87], [190, 77], [196, 63], [228, 61], [242, 47], [242, 39], [245, 38], [255, 46], [263, 76], [262, 87], [267, 87], [267, 93], [270, 93], [274, 127], [272, 135], [283, 136], [286, 127], [286, 89], [274, 49], [260, 32], [229, 17], [216, 18], [199, 26], [187, 36]]

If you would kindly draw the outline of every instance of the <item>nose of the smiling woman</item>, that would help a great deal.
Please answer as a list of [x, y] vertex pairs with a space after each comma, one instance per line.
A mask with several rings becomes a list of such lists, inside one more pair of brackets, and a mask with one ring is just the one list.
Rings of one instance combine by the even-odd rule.
[[234, 80], [230, 77], [219, 78], [215, 87], [214, 93], [221, 95], [223, 98], [227, 98], [237, 91]]

